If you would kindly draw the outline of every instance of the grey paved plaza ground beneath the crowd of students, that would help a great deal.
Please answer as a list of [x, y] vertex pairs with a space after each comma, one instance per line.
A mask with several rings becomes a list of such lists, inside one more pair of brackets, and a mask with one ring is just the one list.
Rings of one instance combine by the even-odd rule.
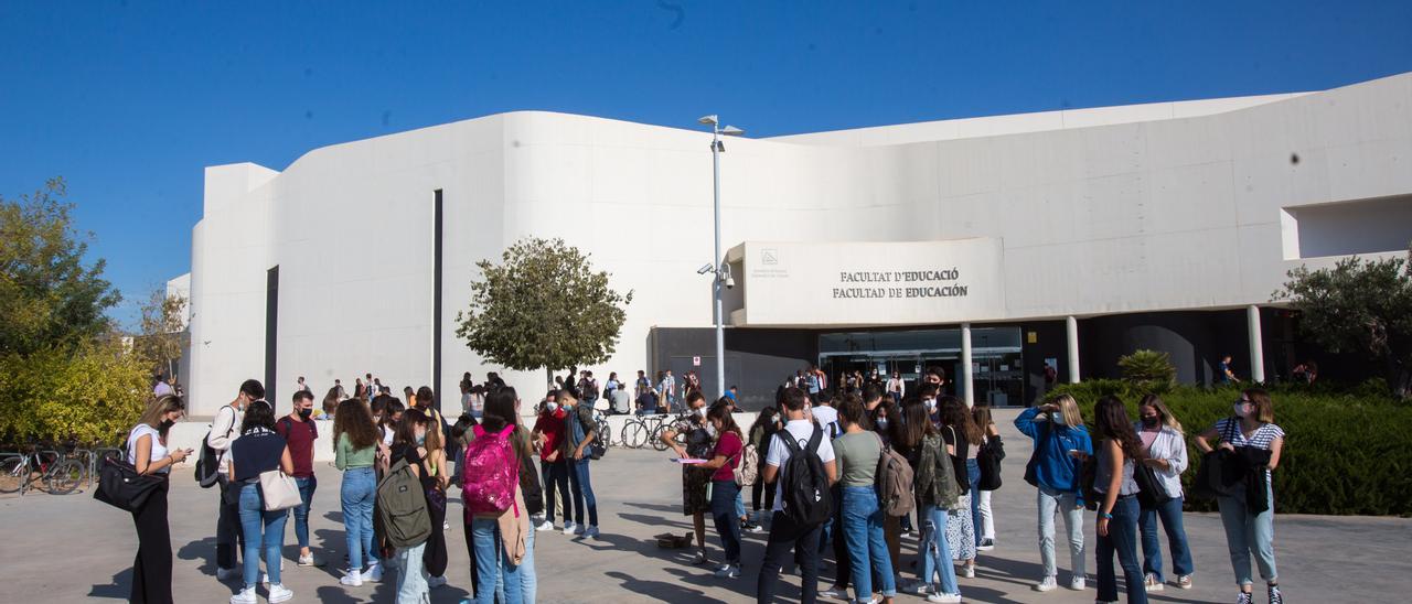
[[[1034, 488], [1021, 480], [1029, 443], [1008, 423], [1014, 412], [997, 421], [1005, 436], [1005, 485], [995, 493], [997, 540], [983, 552], [976, 579], [962, 579], [962, 593], [977, 603], [1091, 603], [1096, 591], [1090, 549], [1089, 584], [1083, 593], [1059, 588], [1041, 594], [1031, 590], [1039, 576], [1035, 545]], [[613, 449], [593, 464], [603, 536], [582, 540], [559, 532], [537, 535], [535, 566], [539, 601], [544, 603], [741, 603], [754, 600], [755, 573], [765, 535], [746, 535], [740, 579], [716, 579], [705, 567], [692, 566], [686, 550], [658, 549], [652, 536], [690, 531], [681, 514], [679, 469], [666, 461], [668, 453]], [[319, 488], [312, 514], [312, 540], [329, 560], [322, 569], [294, 564], [297, 553], [292, 519], [285, 529], [287, 564], [284, 583], [294, 601], [391, 603], [391, 581], [343, 587], [343, 528], [339, 515], [339, 471], [318, 464]], [[469, 583], [465, 536], [460, 525], [459, 491], [452, 491], [446, 536], [450, 566], [449, 584], [432, 591], [433, 603], [456, 603], [466, 597]], [[1278, 498], [1278, 495], [1276, 495]], [[748, 500], [747, 500], [748, 502]], [[179, 603], [223, 603], [234, 584], [215, 577], [216, 491], [201, 490], [191, 469], [176, 471], [171, 493], [174, 593]], [[1086, 517], [1091, 548], [1093, 514]], [[130, 566], [137, 546], [131, 519], [92, 500], [90, 493], [64, 497], [48, 494], [0, 498], [0, 521], [8, 535], [0, 545], [0, 567], [6, 587], [0, 601], [78, 603], [126, 600]], [[709, 525], [709, 522], [707, 522]], [[1196, 559], [1196, 588], [1168, 587], [1152, 594], [1158, 603], [1234, 601], [1234, 587], [1220, 519], [1213, 514], [1186, 515], [1186, 529]], [[1060, 529], [1062, 532], [1062, 529]], [[1275, 549], [1281, 583], [1291, 601], [1351, 603], [1406, 601], [1412, 593], [1412, 521], [1401, 518], [1288, 517], [1276, 519]], [[707, 529], [710, 553], [719, 560], [720, 546]], [[904, 538], [904, 566], [915, 559], [916, 540]], [[1165, 539], [1163, 539], [1165, 548]], [[1060, 548], [1060, 581], [1067, 579], [1067, 553]], [[820, 588], [829, 584], [832, 564], [822, 569]], [[912, 576], [904, 569], [904, 576]], [[785, 576], [784, 601], [798, 601], [798, 577]], [[264, 601], [261, 598], [261, 601]], [[922, 601], [901, 596], [899, 603]], [[1264, 601], [1264, 596], [1257, 596]]]

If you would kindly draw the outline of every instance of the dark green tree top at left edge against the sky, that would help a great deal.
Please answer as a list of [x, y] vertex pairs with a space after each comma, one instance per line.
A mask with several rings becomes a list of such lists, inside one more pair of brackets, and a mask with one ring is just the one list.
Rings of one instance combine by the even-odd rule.
[[103, 260], [83, 265], [88, 240], [73, 229], [62, 178], [17, 200], [0, 198], [0, 351], [76, 347], [104, 333], [121, 298]]

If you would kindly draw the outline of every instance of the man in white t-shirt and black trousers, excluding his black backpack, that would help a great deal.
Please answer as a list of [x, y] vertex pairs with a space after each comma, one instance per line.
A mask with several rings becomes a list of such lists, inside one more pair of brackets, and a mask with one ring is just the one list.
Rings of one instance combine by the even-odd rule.
[[[779, 439], [795, 439], [799, 449], [809, 450], [809, 440], [818, 428], [809, 419], [809, 398], [799, 388], [785, 389], [785, 429], [775, 433], [770, 440], [765, 453], [765, 466], [761, 477], [765, 484], [782, 481], [781, 467], [789, 460], [789, 447]], [[832, 409], [832, 408], [830, 408]], [[837, 416], [834, 416], [837, 421]], [[839, 480], [837, 469], [833, 464], [833, 443], [827, 435], [820, 435], [816, 450], [823, 461], [829, 484]], [[791, 560], [791, 552], [799, 560], [799, 577], [802, 580], [802, 601], [815, 601], [819, 593], [819, 533], [823, 525], [798, 525], [784, 512], [784, 488], [775, 488], [774, 522], [770, 525], [770, 540], [765, 545], [764, 563], [760, 566], [760, 580], [755, 584], [755, 598], [758, 603], [775, 600], [775, 584], [779, 583], [779, 567]]]

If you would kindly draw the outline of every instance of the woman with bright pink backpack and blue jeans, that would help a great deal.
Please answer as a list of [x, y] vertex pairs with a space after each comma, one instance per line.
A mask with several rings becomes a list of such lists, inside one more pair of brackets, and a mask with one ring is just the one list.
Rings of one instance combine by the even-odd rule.
[[[520, 397], [513, 387], [501, 387], [486, 397], [486, 409], [474, 440], [508, 439], [510, 460], [517, 476], [522, 471], [521, 460], [530, 456], [530, 437], [520, 425]], [[493, 445], [490, 445], [493, 446]], [[484, 449], [467, 447], [466, 463], [462, 464], [462, 500], [465, 493], [474, 490], [480, 476], [470, 473], [473, 456]], [[500, 514], [472, 514], [472, 543], [476, 563], [476, 603], [503, 604], [532, 603], [535, 598], [534, 531], [530, 529], [530, 514], [524, 504], [524, 490], [514, 487], [515, 504]], [[520, 550], [522, 543], [524, 550]], [[503, 591], [503, 594], [497, 594]], [[497, 597], [503, 596], [503, 597]]]

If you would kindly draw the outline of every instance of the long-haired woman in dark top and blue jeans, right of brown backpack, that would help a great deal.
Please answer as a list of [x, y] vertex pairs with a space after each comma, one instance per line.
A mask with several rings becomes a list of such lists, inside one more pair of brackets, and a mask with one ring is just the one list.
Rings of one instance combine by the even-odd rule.
[[898, 439], [911, 443], [908, 461], [914, 469], [912, 488], [919, 505], [916, 521], [922, 528], [922, 539], [916, 546], [922, 559], [921, 580], [908, 587], [908, 593], [926, 596], [929, 603], [959, 603], [962, 593], [956, 584], [950, 545], [946, 542], [946, 518], [952, 509], [959, 508], [962, 494], [956, 466], [921, 399], [907, 399], [901, 416], [905, 419], [905, 429]]

